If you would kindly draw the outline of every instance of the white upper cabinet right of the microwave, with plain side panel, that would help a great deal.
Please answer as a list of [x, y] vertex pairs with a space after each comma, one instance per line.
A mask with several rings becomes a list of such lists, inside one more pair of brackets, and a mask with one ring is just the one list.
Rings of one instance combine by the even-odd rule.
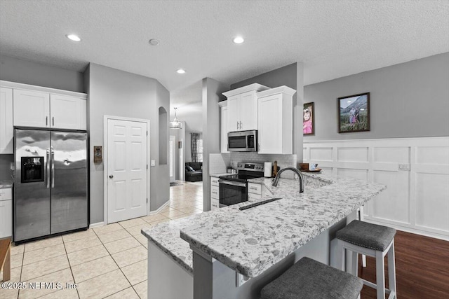
[[287, 86], [257, 92], [259, 153], [293, 153], [293, 95]]

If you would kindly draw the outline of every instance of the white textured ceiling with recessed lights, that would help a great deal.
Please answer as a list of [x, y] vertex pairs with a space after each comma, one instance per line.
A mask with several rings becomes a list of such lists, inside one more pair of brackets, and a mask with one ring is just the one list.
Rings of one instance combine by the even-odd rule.
[[448, 28], [447, 0], [0, 1], [1, 55], [76, 71], [95, 62], [170, 91], [293, 62], [304, 62], [304, 84], [326, 81], [448, 52]]

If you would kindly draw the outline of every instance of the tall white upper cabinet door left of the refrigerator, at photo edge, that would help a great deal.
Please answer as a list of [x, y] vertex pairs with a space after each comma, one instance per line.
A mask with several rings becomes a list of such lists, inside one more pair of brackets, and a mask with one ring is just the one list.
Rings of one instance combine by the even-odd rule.
[[0, 153], [13, 153], [13, 90], [0, 88]]

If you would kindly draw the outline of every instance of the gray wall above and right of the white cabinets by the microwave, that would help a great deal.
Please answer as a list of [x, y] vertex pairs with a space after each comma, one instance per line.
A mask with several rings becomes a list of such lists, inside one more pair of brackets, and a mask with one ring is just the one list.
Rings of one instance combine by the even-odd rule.
[[[295, 62], [273, 71], [231, 84], [231, 90], [259, 83], [269, 88], [286, 85], [296, 90], [293, 95], [293, 153], [297, 161], [302, 162], [302, 101], [304, 95], [304, 74], [302, 62]], [[299, 132], [299, 134], [298, 134]]]

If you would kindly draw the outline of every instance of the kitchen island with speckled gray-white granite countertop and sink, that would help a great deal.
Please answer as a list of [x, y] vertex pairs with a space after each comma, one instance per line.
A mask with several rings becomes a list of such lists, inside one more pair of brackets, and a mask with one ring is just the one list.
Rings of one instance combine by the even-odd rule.
[[272, 179], [251, 181], [272, 193], [265, 198], [282, 199], [142, 229], [149, 238], [149, 298], [259, 298], [260, 288], [303, 256], [329, 264], [335, 232], [386, 188], [326, 174], [304, 174], [304, 193], [295, 180], [277, 187]]

